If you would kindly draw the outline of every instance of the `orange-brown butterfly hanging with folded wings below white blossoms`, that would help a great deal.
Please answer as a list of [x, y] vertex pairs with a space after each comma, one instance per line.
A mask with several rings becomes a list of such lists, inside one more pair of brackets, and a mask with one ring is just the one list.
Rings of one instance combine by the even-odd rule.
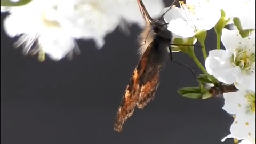
[[133, 71], [117, 111], [114, 124], [114, 130], [117, 132], [122, 131], [124, 122], [132, 116], [135, 107], [142, 109], [154, 98], [160, 82], [159, 72], [165, 67], [168, 50], [171, 55], [173, 35], [167, 30], [167, 23], [163, 20], [163, 16], [172, 6], [159, 19], [153, 19], [142, 0], [137, 0], [137, 3], [146, 22], [146, 28], [140, 37], [142, 57]]

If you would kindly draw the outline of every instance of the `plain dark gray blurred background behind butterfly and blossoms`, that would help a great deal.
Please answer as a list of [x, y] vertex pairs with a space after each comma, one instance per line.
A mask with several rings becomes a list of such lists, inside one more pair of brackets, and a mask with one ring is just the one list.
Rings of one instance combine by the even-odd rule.
[[[161, 72], [156, 97], [135, 109], [122, 133], [113, 130], [117, 108], [138, 63], [137, 37], [131, 27], [125, 36], [118, 29], [97, 50], [93, 41], [78, 41], [81, 55], [72, 61], [23, 56], [2, 27], [1, 14], [1, 143], [208, 143], [218, 144], [229, 134], [233, 118], [222, 110], [223, 99], [193, 100], [177, 90], [197, 86], [190, 71], [168, 62]], [[206, 45], [214, 47], [211, 30]], [[200, 48], [196, 48], [200, 55]], [[188, 55], [174, 60], [193, 67]], [[225, 144], [233, 143], [227, 140]]]

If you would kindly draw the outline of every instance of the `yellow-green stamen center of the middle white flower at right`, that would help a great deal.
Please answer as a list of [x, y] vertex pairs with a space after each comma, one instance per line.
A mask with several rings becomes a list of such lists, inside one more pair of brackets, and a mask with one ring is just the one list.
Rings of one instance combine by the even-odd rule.
[[242, 70], [251, 70], [252, 63], [255, 62], [255, 53], [249, 51], [250, 50], [235, 49], [235, 52], [231, 57], [231, 62], [235, 66], [239, 66]]

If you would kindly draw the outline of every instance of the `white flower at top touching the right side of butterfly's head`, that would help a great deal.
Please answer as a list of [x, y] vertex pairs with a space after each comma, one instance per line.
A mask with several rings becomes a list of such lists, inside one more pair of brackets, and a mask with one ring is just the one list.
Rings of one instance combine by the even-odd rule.
[[186, 2], [180, 2], [181, 8], [172, 7], [164, 16], [165, 21], [169, 22], [168, 30], [172, 33], [185, 38], [193, 37], [198, 31], [213, 28], [220, 19], [220, 9], [213, 7], [211, 1]]

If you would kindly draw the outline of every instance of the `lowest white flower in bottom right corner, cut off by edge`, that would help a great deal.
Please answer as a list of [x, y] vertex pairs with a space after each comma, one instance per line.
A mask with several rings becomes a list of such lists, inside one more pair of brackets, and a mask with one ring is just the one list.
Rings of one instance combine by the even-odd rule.
[[222, 139], [235, 138], [238, 140], [255, 141], [255, 91], [239, 90], [224, 93], [223, 109], [234, 115], [234, 122], [228, 136]]

